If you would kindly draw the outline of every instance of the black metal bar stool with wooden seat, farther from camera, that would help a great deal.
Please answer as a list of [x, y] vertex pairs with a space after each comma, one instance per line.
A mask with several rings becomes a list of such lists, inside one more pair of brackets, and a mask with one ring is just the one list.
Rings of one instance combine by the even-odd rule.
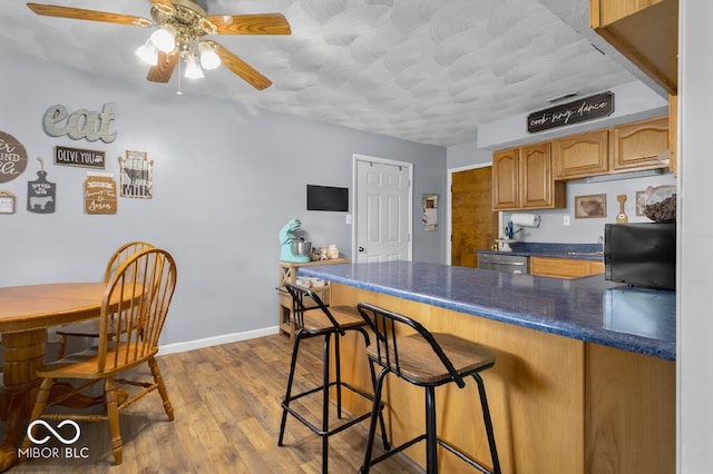
[[[389, 450], [389, 442], [387, 440], [387, 429], [381, 415], [383, 404], [374, 402], [374, 397], [341, 379], [341, 361], [339, 339], [344, 336], [348, 330], [356, 330], [364, 336], [364, 343], [369, 346], [369, 334], [367, 334], [367, 323], [361, 318], [356, 308], [351, 306], [332, 306], [326, 307], [322, 299], [313, 292], [302, 286], [294, 285], [290, 282], [285, 282], [285, 288], [292, 296], [292, 304], [294, 309], [294, 324], [296, 332], [294, 334], [294, 346], [292, 349], [292, 362], [290, 364], [290, 376], [287, 378], [287, 391], [282, 402], [282, 423], [280, 425], [280, 438], [277, 445], [283, 445], [283, 437], [285, 433], [285, 424], [287, 422], [287, 414], [291, 414], [303, 425], [309, 427], [313, 433], [322, 437], [322, 472], [328, 472], [328, 452], [329, 452], [329, 437], [336, 434], [350, 426], [360, 423], [370, 416], [373, 416], [374, 423], [379, 418], [381, 424], [381, 434], [383, 440], [384, 450]], [[305, 302], [306, 298], [306, 302]], [[311, 302], [310, 302], [311, 300]], [[334, 364], [335, 364], [335, 381], [330, 381], [330, 340], [334, 336]], [[305, 392], [292, 395], [292, 383], [294, 382], [294, 373], [297, 362], [297, 354], [300, 349], [300, 342], [311, 337], [324, 337], [323, 343], [323, 361], [322, 361], [322, 384], [318, 387], [307, 389]], [[372, 389], [375, 382], [374, 368], [369, 364], [371, 369], [371, 384]], [[342, 387], [352, 391], [353, 393], [369, 399], [375, 408], [361, 414], [359, 416], [351, 416], [338, 426], [330, 428], [329, 414], [330, 414], [330, 388], [336, 388], [336, 416], [342, 418]], [[297, 413], [290, 406], [295, 399], [305, 397], [314, 393], [322, 393], [322, 421], [321, 426], [306, 419], [305, 416]], [[375, 405], [374, 405], [375, 404]], [[373, 413], [373, 415], [372, 415]], [[319, 422], [318, 422], [319, 423]], [[374, 429], [375, 431], [375, 429]], [[373, 433], [372, 433], [373, 440]]]

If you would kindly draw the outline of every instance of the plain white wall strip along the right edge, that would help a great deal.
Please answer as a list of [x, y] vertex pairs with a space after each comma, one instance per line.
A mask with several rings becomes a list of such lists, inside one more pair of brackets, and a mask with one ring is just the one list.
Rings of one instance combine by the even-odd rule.
[[678, 473], [713, 465], [713, 2], [680, 2]]

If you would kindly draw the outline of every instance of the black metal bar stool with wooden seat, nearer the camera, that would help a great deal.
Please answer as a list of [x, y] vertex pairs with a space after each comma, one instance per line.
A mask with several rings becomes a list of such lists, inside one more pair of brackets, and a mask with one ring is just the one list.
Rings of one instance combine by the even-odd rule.
[[[427, 472], [438, 472], [437, 447], [440, 445], [460, 460], [470, 464], [482, 473], [500, 473], [500, 462], [495, 445], [492, 422], [488, 401], [486, 398], [485, 384], [478, 374], [495, 365], [495, 354], [489, 349], [448, 334], [431, 334], [418, 322], [387, 309], [360, 303], [356, 305], [362, 318], [371, 326], [377, 342], [367, 348], [369, 361], [374, 372], [374, 365], [382, 367], [374, 388], [374, 408], [369, 428], [369, 441], [364, 464], [360, 473], [368, 473], [370, 466], [399, 453], [407, 447], [426, 440], [426, 468]], [[413, 330], [402, 330], [399, 335], [395, 330], [399, 326], [408, 326]], [[403, 329], [408, 329], [403, 328]], [[393, 373], [411, 384], [426, 389], [426, 433], [421, 434], [398, 447], [372, 460], [371, 452], [375, 432], [377, 415], [381, 414], [381, 392], [387, 374]], [[465, 377], [472, 376], [478, 385], [482, 418], [492, 470], [488, 470], [479, 462], [458, 451], [452, 445], [438, 438], [436, 431], [436, 387], [448, 383], [456, 383], [459, 388], [466, 386]]]

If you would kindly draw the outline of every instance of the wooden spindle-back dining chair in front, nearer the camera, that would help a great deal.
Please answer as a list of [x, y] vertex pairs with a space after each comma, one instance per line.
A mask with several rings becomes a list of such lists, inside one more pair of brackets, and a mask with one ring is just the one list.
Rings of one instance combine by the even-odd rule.
[[[174, 419], [174, 409], [168, 399], [164, 379], [156, 363], [158, 338], [166, 322], [168, 306], [176, 286], [176, 265], [165, 250], [150, 248], [134, 254], [111, 276], [101, 302], [98, 346], [70, 354], [59, 361], [38, 368], [42, 379], [30, 424], [36, 419], [75, 422], [108, 422], [111, 435], [111, 448], [116, 464], [121, 464], [124, 444], [119, 429], [119, 412], [130, 406], [144, 395], [158, 389], [168, 419]], [[153, 379], [139, 377], [127, 371], [148, 364]], [[117, 378], [131, 377], [133, 379]], [[57, 379], [72, 382], [72, 389], [61, 395], [52, 387], [67, 386], [55, 384]], [[98, 382], [104, 383], [104, 404], [106, 411], [97, 414], [96, 407], [87, 413], [66, 413], [47, 408], [55, 405], [74, 406], [71, 397], [81, 395]], [[118, 401], [117, 384], [134, 388], [128, 397]], [[50, 399], [50, 393], [52, 398]], [[124, 397], [121, 397], [124, 398]], [[37, 426], [29, 429], [22, 442], [22, 451], [32, 446], [30, 434], [35, 438]], [[21, 461], [25, 461], [22, 457]]]

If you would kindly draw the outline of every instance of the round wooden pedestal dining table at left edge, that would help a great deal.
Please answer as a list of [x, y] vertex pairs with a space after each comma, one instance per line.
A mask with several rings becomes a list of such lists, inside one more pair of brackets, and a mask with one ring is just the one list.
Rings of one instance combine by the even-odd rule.
[[[6, 436], [0, 446], [0, 472], [17, 463], [23, 422], [40, 384], [37, 368], [45, 363], [47, 328], [99, 316], [106, 283], [56, 283], [0, 288], [2, 377], [0, 419]], [[130, 292], [127, 292], [130, 293]]]

